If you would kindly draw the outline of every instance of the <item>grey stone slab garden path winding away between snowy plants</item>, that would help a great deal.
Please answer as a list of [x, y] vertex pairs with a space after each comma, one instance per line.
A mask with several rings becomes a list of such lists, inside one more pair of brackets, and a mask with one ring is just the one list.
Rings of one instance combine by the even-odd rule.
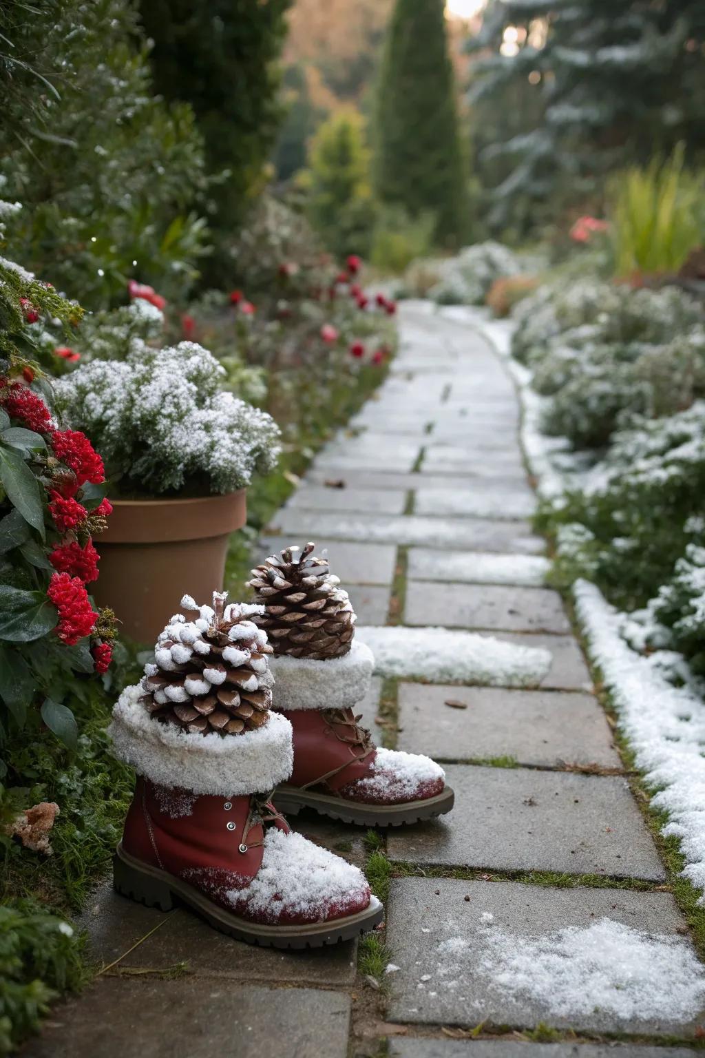
[[[607, 1043], [587, 1038], [636, 1032], [643, 1042], [610, 1054], [691, 1053], [654, 1044], [692, 1037], [694, 1024], [616, 1021], [590, 1003], [561, 1018], [496, 972], [506, 952], [535, 951], [530, 937], [604, 917], [687, 931], [561, 601], [542, 586], [513, 384], [482, 338], [427, 306], [404, 305], [401, 326], [390, 378], [317, 456], [263, 547], [328, 547], [359, 625], [541, 645], [549, 675], [534, 690], [373, 680], [364, 711], [377, 740], [444, 762], [457, 792], [450, 816], [386, 839], [398, 864], [386, 931], [395, 969], [381, 990], [358, 973], [353, 945], [260, 951], [106, 886], [86, 914], [93, 949], [106, 966], [125, 957], [53, 1013], [32, 1058], [598, 1058]], [[297, 826], [364, 864], [359, 831], [315, 817]], [[576, 1035], [521, 1033], [539, 1023]]]

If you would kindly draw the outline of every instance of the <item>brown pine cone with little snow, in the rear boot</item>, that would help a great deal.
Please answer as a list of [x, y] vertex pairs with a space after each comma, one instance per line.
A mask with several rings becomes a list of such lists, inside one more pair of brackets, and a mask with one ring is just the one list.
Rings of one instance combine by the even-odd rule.
[[254, 620], [266, 630], [274, 653], [323, 661], [352, 646], [355, 613], [328, 560], [312, 554], [315, 546], [307, 544], [300, 555], [298, 547], [271, 555], [248, 583], [265, 610]]

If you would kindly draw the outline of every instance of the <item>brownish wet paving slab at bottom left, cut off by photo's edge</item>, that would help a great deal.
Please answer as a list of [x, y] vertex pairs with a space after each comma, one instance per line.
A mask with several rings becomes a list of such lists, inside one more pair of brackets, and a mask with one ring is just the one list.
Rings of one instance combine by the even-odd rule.
[[346, 1058], [350, 999], [194, 978], [101, 980], [54, 1007], [25, 1058]]

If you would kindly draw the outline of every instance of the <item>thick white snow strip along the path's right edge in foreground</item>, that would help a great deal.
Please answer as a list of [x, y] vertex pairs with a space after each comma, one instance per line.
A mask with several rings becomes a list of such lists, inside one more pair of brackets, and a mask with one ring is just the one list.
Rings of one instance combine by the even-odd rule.
[[[599, 665], [620, 726], [647, 782], [661, 787], [653, 805], [669, 813], [664, 834], [681, 839], [684, 875], [705, 889], [705, 704], [687, 687], [673, 687], [619, 635], [624, 615], [597, 587], [577, 581], [574, 594], [590, 655]], [[705, 896], [701, 896], [705, 904]]]

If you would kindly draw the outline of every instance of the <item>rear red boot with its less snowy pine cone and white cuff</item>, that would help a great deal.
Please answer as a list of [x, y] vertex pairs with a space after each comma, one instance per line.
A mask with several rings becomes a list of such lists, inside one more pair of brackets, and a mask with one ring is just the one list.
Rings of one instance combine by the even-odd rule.
[[453, 791], [428, 756], [377, 749], [354, 706], [366, 696], [374, 658], [355, 635], [355, 613], [328, 561], [287, 547], [253, 569], [276, 679], [274, 708], [291, 723], [294, 770], [275, 801], [364, 826], [398, 826], [450, 811]]

